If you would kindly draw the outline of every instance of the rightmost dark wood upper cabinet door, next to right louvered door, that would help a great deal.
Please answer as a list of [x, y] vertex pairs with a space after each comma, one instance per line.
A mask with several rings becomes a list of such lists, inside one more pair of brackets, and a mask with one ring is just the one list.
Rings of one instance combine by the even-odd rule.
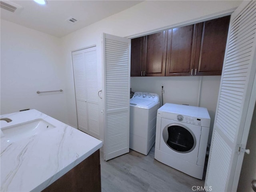
[[194, 75], [221, 75], [230, 16], [199, 23]]

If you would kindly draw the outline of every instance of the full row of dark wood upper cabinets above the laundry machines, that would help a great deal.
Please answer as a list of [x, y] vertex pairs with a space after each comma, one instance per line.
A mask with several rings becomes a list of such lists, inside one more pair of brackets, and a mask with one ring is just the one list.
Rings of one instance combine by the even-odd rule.
[[131, 76], [221, 75], [230, 16], [132, 39]]

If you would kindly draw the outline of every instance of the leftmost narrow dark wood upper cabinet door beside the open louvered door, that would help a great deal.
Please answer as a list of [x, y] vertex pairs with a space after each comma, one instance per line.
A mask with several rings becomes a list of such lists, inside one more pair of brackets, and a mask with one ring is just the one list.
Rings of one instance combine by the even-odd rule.
[[131, 40], [131, 76], [143, 76], [144, 37]]

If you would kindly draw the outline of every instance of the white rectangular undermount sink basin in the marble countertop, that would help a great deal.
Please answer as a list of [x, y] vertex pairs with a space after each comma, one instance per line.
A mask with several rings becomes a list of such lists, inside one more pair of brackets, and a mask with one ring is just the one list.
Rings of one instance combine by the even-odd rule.
[[1, 128], [7, 142], [15, 142], [24, 138], [29, 138], [46, 130], [55, 128], [52, 124], [43, 119], [21, 123], [18, 125]]

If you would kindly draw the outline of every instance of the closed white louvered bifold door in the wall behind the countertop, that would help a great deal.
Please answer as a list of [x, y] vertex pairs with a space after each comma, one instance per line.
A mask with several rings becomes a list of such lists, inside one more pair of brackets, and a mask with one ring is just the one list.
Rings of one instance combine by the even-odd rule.
[[100, 138], [96, 46], [72, 52], [78, 129]]

